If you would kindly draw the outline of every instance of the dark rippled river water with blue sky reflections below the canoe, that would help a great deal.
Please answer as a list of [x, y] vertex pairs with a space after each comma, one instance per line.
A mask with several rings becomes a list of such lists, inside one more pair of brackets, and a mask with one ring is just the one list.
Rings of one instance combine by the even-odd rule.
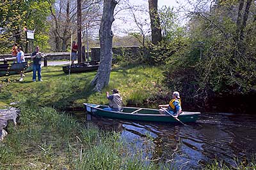
[[[120, 132], [131, 150], [175, 169], [201, 169], [212, 159], [236, 166], [256, 153], [256, 116], [202, 113], [195, 123], [167, 124], [92, 117], [104, 131]], [[235, 160], [236, 159], [236, 160]]]

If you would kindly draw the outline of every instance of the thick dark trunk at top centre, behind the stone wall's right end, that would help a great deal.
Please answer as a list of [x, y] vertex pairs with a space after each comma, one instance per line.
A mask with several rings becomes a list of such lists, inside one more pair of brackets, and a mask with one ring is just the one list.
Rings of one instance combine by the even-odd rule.
[[160, 25], [160, 19], [157, 10], [157, 0], [148, 0], [149, 15], [151, 21], [151, 36], [152, 43], [156, 45], [162, 40], [162, 31]]

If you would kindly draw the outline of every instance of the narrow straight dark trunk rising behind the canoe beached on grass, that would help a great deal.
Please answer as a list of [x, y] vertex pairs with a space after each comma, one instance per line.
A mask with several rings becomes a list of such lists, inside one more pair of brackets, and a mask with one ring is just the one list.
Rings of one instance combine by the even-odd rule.
[[78, 45], [78, 63], [82, 62], [82, 11], [81, 11], [81, 0], [77, 0], [77, 45]]

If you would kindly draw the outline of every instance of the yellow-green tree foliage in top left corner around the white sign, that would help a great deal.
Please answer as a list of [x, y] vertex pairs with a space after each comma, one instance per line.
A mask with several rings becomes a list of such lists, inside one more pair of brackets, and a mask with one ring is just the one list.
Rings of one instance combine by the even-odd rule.
[[10, 1], [4, 0], [0, 3], [0, 53], [10, 53], [13, 43], [22, 45], [24, 50], [26, 43], [26, 32], [35, 29], [35, 45], [45, 50], [49, 48], [49, 25], [45, 20], [50, 14], [49, 6], [53, 1]]

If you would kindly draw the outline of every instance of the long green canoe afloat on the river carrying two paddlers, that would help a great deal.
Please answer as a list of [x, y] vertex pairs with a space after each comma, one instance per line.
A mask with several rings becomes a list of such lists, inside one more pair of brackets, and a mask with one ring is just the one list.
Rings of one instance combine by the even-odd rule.
[[[84, 103], [84, 107], [88, 113], [92, 115], [97, 115], [100, 117], [108, 118], [120, 118], [129, 120], [140, 120], [140, 121], [150, 121], [150, 122], [172, 122], [178, 123], [179, 121], [173, 118], [171, 115], [161, 115], [159, 110], [149, 109], [149, 108], [132, 108], [132, 107], [122, 107], [122, 111], [107, 111], [103, 108], [108, 108], [106, 105], [100, 104], [88, 104]], [[200, 112], [188, 112], [183, 111], [179, 115], [179, 120], [182, 122], [196, 122]]]

